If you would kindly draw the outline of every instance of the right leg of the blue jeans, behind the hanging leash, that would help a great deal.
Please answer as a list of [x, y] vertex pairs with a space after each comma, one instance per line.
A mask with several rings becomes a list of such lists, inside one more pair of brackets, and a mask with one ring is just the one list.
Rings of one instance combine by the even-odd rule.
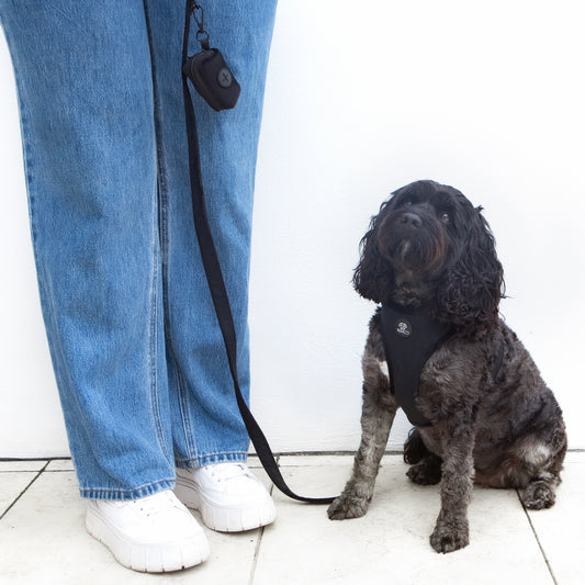
[[[206, 0], [205, 27], [241, 94], [213, 111], [194, 91], [201, 166], [236, 334], [238, 368], [249, 393], [248, 277], [256, 156], [275, 0]], [[170, 403], [179, 466], [245, 460], [241, 421], [195, 239], [180, 82], [184, 2], [146, 0], [154, 63], [161, 198], [161, 240]], [[200, 50], [191, 38], [191, 53]]]

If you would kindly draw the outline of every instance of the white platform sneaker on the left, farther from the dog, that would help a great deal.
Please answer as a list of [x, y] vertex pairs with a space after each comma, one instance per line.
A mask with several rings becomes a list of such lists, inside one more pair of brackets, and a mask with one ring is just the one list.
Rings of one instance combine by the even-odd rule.
[[203, 529], [170, 490], [134, 500], [92, 499], [86, 527], [134, 571], [179, 571], [210, 555]]

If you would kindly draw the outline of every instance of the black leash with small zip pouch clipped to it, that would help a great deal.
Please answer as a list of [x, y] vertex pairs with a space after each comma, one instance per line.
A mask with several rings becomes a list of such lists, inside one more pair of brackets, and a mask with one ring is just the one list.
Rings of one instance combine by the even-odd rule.
[[[199, 31], [196, 40], [202, 50], [195, 55], [188, 56], [189, 33], [191, 27], [191, 15], [193, 15]], [[239, 412], [250, 440], [272, 483], [286, 496], [305, 502], [307, 504], [330, 504], [335, 498], [323, 497], [312, 498], [299, 496], [292, 492], [284, 482], [274, 455], [268, 445], [262, 429], [250, 413], [246, 401], [241, 395], [237, 372], [237, 338], [229, 306], [229, 299], [225, 288], [225, 281], [213, 241], [207, 212], [205, 207], [205, 194], [203, 190], [203, 179], [199, 156], [199, 139], [195, 125], [195, 112], [191, 93], [189, 91], [189, 79], [203, 99], [217, 112], [229, 110], [236, 105], [240, 87], [232, 70], [227, 66], [224, 57], [216, 48], [210, 48], [210, 35], [205, 31], [204, 14], [201, 4], [194, 0], [187, 0], [183, 47], [182, 47], [182, 83], [184, 113], [187, 122], [187, 137], [189, 143], [189, 172], [191, 179], [191, 199], [193, 203], [193, 222], [201, 250], [203, 268], [207, 278], [211, 296], [217, 315], [217, 322], [222, 330], [227, 361], [232, 379], [234, 380], [234, 391]]]

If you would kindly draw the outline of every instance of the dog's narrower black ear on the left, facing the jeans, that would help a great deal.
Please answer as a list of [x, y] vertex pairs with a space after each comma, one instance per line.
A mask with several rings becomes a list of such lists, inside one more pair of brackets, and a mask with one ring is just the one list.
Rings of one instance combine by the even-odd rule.
[[383, 303], [391, 293], [394, 275], [390, 262], [378, 248], [378, 226], [389, 205], [382, 203], [378, 215], [372, 217], [370, 228], [360, 241], [360, 262], [353, 272], [353, 288], [364, 299]]

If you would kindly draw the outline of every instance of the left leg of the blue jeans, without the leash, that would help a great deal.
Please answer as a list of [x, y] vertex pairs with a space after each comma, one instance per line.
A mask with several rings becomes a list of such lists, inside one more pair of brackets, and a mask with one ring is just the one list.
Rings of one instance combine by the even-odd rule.
[[143, 0], [0, 0], [0, 20], [16, 76], [44, 319], [81, 494], [123, 499], [172, 487]]

